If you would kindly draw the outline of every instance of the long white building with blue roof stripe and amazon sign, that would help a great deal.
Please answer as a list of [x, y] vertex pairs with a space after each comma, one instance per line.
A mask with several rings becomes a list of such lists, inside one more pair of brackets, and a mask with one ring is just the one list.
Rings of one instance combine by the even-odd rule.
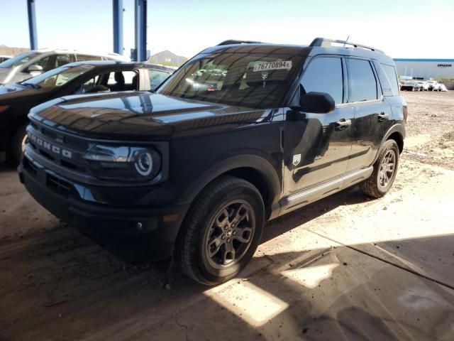
[[394, 59], [397, 75], [454, 79], [454, 59]]

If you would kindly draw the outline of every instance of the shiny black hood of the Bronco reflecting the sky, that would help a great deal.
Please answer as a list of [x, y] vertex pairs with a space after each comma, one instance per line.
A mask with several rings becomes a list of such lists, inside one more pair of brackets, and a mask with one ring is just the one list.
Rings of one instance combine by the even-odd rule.
[[53, 99], [31, 109], [29, 117], [87, 137], [153, 139], [218, 133], [263, 122], [271, 111], [150, 92], [114, 92]]

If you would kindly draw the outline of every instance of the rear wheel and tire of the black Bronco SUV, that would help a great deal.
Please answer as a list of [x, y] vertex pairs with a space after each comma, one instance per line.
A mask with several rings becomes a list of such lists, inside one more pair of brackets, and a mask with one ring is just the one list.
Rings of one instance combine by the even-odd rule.
[[[392, 159], [390, 157], [392, 156]], [[389, 161], [389, 163], [388, 163]], [[388, 164], [387, 171], [382, 172], [384, 164]], [[392, 173], [389, 171], [393, 163]], [[391, 188], [396, 178], [397, 168], [399, 167], [399, 146], [396, 141], [387, 140], [384, 142], [377, 161], [374, 163], [374, 171], [370, 178], [360, 183], [359, 187], [362, 193], [370, 197], [383, 197]]]

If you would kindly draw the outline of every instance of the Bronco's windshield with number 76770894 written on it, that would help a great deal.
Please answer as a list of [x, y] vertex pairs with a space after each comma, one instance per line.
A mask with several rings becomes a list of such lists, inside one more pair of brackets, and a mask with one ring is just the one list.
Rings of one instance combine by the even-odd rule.
[[174, 97], [252, 108], [280, 107], [301, 70], [290, 53], [213, 53], [181, 67], [158, 92]]

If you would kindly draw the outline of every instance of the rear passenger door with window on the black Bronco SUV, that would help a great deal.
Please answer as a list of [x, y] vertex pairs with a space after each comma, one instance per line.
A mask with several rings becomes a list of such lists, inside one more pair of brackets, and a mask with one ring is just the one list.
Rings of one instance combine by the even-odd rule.
[[391, 114], [378, 75], [370, 60], [346, 58], [348, 102], [354, 107], [353, 144], [348, 171], [370, 166], [375, 160]]

